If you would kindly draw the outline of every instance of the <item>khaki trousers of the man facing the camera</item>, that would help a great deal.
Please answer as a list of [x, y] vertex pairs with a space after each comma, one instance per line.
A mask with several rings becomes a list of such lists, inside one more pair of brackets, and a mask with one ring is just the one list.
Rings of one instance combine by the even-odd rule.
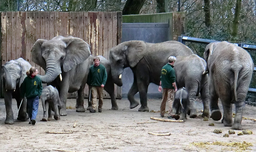
[[103, 105], [103, 87], [101, 86], [92, 86], [91, 88], [92, 91], [92, 109], [96, 110], [97, 107], [97, 94], [99, 97], [99, 106], [98, 109], [102, 109], [102, 105]]

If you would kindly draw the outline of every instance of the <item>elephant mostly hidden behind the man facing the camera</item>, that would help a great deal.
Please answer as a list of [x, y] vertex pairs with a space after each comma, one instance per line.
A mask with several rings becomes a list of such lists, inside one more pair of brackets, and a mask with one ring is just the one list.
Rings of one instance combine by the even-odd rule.
[[[118, 110], [118, 105], [117, 105], [117, 101], [116, 101], [116, 97], [115, 97], [115, 86], [114, 86], [114, 81], [112, 79], [112, 76], [111, 76], [111, 66], [110, 66], [110, 62], [104, 58], [103, 56], [99, 55], [98, 56], [99, 59], [100, 59], [100, 64], [102, 64], [103, 66], [105, 66], [106, 68], [106, 71], [107, 71], [107, 81], [106, 81], [106, 84], [104, 86], [104, 90], [107, 91], [107, 93], [109, 93], [110, 95], [110, 98], [111, 98], [111, 104], [112, 104], [112, 107], [111, 109], [112, 110]], [[93, 62], [93, 58], [94, 57], [90, 57], [90, 59], [92, 59], [90, 61], [91, 65], [94, 64]], [[89, 60], [89, 59], [87, 59]], [[89, 69], [88, 69], [89, 70]], [[90, 110], [92, 108], [92, 96], [91, 96], [91, 99], [89, 100], [88, 99], [88, 107], [87, 107], [87, 110]]]

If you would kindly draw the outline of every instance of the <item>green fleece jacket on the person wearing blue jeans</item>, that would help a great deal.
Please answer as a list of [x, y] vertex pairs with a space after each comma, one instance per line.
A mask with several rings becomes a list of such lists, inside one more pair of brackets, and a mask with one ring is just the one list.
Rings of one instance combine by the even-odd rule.
[[38, 76], [31, 78], [27, 76], [23, 83], [21, 84], [21, 97], [34, 98], [36, 96], [40, 97], [43, 90], [42, 81]]

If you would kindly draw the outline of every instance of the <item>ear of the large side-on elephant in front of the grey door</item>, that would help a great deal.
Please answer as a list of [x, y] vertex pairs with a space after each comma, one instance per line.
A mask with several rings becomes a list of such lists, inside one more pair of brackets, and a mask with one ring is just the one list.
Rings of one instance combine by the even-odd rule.
[[134, 67], [144, 57], [146, 53], [146, 43], [144, 41], [129, 41], [126, 53], [130, 67]]

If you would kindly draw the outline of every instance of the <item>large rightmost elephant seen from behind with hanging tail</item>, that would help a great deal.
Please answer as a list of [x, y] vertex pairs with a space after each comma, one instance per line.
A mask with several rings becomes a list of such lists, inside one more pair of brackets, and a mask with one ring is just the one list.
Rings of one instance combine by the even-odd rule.
[[[222, 118], [218, 99], [223, 105], [224, 126], [242, 129], [243, 106], [253, 72], [250, 54], [228, 42], [214, 42], [205, 47], [203, 58], [207, 62], [204, 73], [209, 73], [211, 118]], [[235, 118], [232, 123], [232, 105], [235, 104]]]

